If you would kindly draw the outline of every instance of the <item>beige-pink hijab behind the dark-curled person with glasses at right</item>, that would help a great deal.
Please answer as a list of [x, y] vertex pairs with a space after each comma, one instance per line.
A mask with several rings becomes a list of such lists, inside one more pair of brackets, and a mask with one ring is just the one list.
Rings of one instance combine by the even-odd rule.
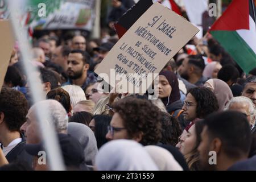
[[218, 111], [223, 111], [228, 102], [233, 98], [233, 94], [229, 85], [220, 79], [210, 79], [205, 82], [205, 87], [212, 90], [218, 100]]

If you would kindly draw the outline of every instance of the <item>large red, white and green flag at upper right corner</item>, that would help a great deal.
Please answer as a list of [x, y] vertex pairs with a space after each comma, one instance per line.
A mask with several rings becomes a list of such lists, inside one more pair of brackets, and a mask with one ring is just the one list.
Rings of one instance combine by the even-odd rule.
[[256, 67], [254, 0], [233, 0], [209, 31], [244, 72]]

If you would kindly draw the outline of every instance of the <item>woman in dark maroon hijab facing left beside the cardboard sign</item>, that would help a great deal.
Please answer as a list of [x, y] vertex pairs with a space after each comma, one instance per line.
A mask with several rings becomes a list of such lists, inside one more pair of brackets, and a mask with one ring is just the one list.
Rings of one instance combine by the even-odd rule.
[[180, 100], [179, 81], [175, 73], [171, 71], [161, 71], [159, 73], [159, 98], [162, 100], [166, 110], [173, 117], [177, 118], [180, 126], [184, 129], [189, 122], [183, 118], [183, 103]]

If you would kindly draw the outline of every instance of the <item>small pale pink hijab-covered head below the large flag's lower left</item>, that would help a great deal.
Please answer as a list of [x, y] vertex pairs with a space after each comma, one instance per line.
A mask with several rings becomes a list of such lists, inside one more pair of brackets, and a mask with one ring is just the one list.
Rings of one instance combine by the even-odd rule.
[[203, 76], [206, 78], [217, 78], [221, 68], [222, 65], [219, 62], [213, 61], [205, 66]]

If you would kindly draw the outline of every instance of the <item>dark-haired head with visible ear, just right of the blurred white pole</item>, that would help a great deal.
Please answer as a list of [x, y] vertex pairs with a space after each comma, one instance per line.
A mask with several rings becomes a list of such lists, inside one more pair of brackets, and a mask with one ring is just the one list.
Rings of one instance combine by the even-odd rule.
[[42, 78], [42, 83], [44, 84], [44, 91], [46, 94], [51, 90], [59, 87], [58, 81], [51, 70], [46, 68], [40, 68], [40, 76]]

